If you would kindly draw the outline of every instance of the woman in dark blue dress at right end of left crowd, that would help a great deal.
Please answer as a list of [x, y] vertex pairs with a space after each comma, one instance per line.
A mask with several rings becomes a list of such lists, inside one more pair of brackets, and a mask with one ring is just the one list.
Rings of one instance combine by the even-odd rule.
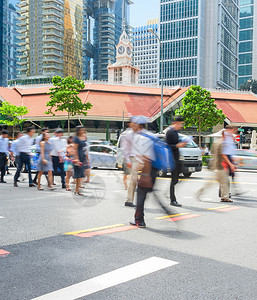
[[80, 192], [80, 187], [82, 183], [82, 179], [84, 178], [84, 163], [86, 159], [85, 155], [85, 147], [86, 147], [86, 137], [85, 137], [85, 128], [83, 126], [76, 127], [76, 135], [73, 137], [74, 144], [74, 179], [76, 183], [75, 194], [79, 196], [84, 196], [83, 193]]

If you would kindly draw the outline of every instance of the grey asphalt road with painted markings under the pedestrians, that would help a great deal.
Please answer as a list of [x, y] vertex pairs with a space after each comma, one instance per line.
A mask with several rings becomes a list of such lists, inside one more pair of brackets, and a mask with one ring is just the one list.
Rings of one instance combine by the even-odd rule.
[[[169, 179], [146, 202], [146, 229], [128, 226], [122, 172], [93, 170], [85, 197], [61, 189], [0, 185], [0, 299], [257, 299], [257, 173], [240, 172], [245, 193], [219, 202], [204, 170], [178, 185], [182, 208], [169, 207]], [[110, 273], [111, 272], [111, 273]], [[66, 289], [65, 289], [66, 288]]]

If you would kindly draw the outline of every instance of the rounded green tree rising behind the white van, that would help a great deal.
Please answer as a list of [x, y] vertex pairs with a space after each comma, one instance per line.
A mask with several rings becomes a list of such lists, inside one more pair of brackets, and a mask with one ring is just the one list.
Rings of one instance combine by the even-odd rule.
[[176, 110], [176, 115], [184, 118], [185, 127], [197, 127], [201, 146], [201, 132], [222, 124], [226, 116], [222, 110], [217, 109], [211, 93], [200, 86], [188, 89], [182, 103], [183, 105]]

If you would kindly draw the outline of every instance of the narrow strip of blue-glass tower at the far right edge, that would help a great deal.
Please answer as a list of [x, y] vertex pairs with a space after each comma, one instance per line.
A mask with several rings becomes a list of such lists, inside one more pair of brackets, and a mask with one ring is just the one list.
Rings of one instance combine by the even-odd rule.
[[238, 87], [257, 79], [257, 3], [240, 0]]

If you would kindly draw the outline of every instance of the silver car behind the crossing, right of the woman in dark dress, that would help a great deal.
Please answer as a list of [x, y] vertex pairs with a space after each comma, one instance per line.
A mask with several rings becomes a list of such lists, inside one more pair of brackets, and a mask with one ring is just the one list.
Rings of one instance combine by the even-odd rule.
[[89, 159], [92, 168], [117, 168], [117, 151], [110, 146], [90, 145]]

